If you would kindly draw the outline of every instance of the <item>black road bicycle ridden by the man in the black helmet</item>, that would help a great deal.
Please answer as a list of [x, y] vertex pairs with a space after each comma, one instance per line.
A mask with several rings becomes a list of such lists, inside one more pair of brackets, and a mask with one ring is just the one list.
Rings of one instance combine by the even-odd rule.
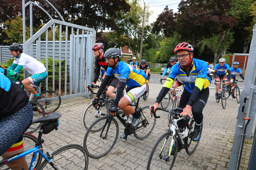
[[[140, 98], [139, 98], [140, 99]], [[131, 105], [135, 107], [135, 110], [139, 111], [142, 114], [138, 126], [132, 128], [131, 125], [127, 125], [125, 120], [121, 118], [120, 110], [116, 113], [116, 118], [120, 120], [122, 125], [125, 126], [125, 135], [134, 134], [137, 139], [145, 139], [148, 137], [156, 124], [156, 118], [151, 117], [149, 113], [149, 106], [141, 108], [138, 104]], [[119, 134], [119, 126], [114, 118], [108, 112], [107, 116], [101, 117], [93, 122], [93, 124], [87, 130], [84, 136], [83, 146], [86, 153], [90, 158], [101, 158], [104, 155], [108, 154], [111, 149], [114, 147], [117, 137]], [[125, 138], [126, 140], [127, 138]]]

